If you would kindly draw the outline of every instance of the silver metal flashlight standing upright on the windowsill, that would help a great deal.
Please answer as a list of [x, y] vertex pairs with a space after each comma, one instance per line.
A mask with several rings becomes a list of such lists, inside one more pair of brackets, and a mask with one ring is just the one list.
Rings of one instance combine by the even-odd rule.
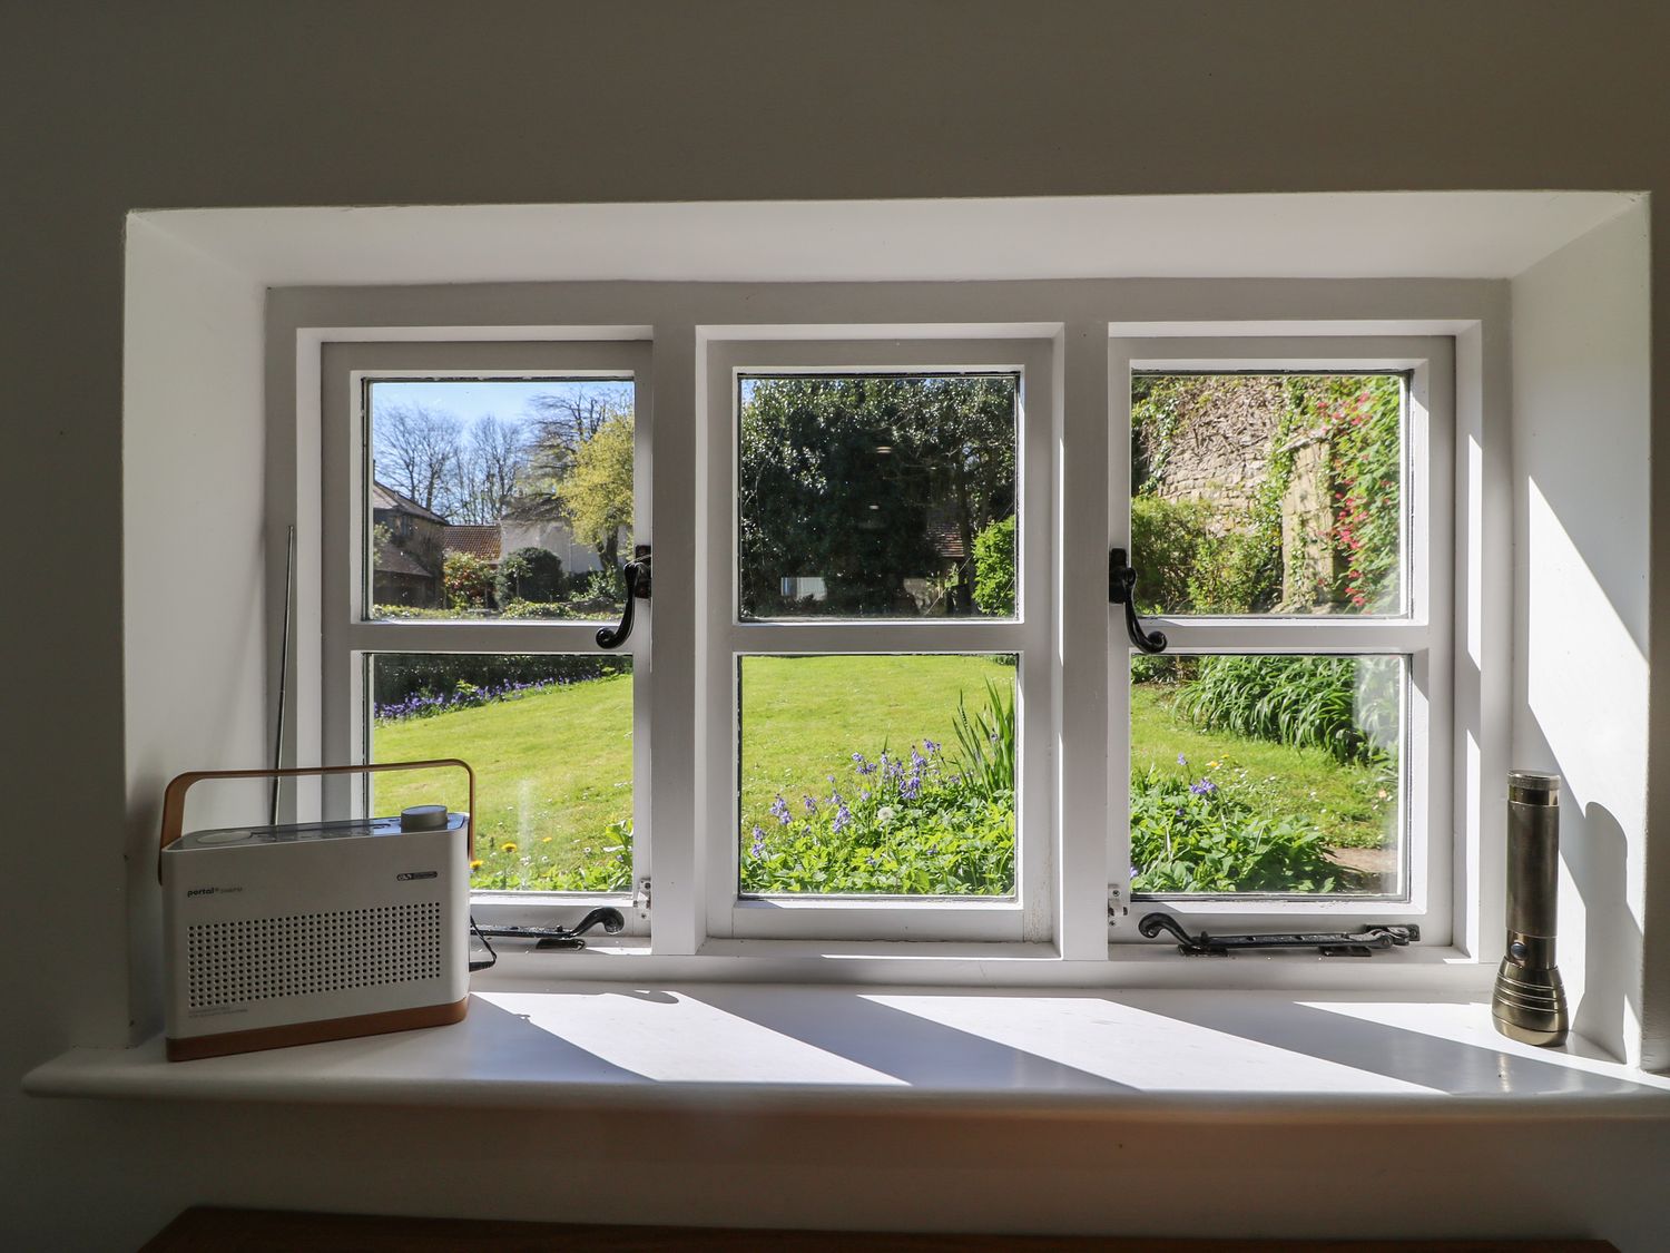
[[1560, 890], [1560, 775], [1508, 772], [1508, 954], [1490, 1012], [1523, 1044], [1565, 1044], [1571, 1017], [1555, 966]]

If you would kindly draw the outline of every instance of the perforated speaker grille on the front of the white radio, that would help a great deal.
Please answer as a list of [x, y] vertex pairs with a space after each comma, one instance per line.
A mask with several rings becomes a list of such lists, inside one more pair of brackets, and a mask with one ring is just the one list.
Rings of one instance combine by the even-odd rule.
[[204, 922], [185, 964], [190, 1009], [438, 979], [441, 904]]

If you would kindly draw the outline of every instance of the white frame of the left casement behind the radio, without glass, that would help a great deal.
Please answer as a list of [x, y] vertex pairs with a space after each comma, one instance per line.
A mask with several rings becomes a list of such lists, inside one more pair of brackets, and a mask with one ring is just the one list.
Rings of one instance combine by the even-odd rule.
[[[474, 890], [479, 922], [551, 924], [579, 909], [623, 909], [626, 934], [643, 934], [643, 885], [653, 874], [655, 822], [650, 779], [651, 742], [648, 675], [655, 625], [648, 603], [636, 606], [631, 637], [615, 650], [596, 643], [598, 621], [424, 621], [376, 620], [367, 613], [364, 568], [371, 513], [371, 418], [366, 383], [399, 379], [561, 379], [630, 381], [633, 384], [633, 541], [648, 545], [651, 518], [651, 446], [655, 429], [648, 342], [327, 342], [322, 349], [322, 673], [326, 760], [371, 760], [367, 658], [376, 653], [561, 653], [631, 658], [633, 675], [633, 887], [625, 892]], [[326, 780], [327, 812], [366, 815], [374, 807], [367, 775]]]

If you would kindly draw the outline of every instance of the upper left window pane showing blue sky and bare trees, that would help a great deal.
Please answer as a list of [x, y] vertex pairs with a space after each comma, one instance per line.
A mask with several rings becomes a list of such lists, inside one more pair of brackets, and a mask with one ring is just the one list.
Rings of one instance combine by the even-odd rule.
[[631, 556], [633, 386], [366, 384], [371, 618], [615, 618]]

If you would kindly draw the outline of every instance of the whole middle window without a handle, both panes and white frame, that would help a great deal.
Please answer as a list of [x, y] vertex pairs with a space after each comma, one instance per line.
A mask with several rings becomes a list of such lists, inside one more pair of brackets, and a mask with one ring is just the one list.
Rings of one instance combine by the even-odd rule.
[[1047, 939], [1049, 342], [716, 341], [706, 401], [708, 934]]

